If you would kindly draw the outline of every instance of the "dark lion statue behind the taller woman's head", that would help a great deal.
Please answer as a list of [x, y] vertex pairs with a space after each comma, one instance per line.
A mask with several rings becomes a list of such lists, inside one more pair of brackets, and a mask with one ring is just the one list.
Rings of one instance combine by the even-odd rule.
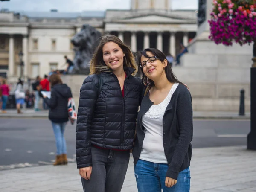
[[101, 36], [101, 33], [94, 27], [90, 25], [83, 25], [81, 31], [71, 39], [71, 43], [75, 47], [75, 69], [73, 70], [73, 73], [90, 73], [90, 60], [95, 48], [99, 45]]

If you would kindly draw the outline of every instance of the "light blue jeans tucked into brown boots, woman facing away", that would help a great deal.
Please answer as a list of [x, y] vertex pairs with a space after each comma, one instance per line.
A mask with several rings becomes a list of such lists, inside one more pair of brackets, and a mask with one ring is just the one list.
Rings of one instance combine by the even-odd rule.
[[67, 144], [64, 138], [64, 131], [67, 122], [64, 123], [55, 123], [52, 122], [52, 128], [55, 136], [56, 147], [57, 147], [57, 155], [67, 154]]

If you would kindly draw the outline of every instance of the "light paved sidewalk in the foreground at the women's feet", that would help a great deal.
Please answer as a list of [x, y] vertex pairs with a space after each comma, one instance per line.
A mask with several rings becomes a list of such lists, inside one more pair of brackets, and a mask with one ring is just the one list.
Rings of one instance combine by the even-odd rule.
[[[256, 192], [256, 151], [246, 146], [195, 148], [191, 192]], [[82, 192], [76, 163], [0, 171], [0, 192]], [[122, 192], [137, 192], [132, 157]]]

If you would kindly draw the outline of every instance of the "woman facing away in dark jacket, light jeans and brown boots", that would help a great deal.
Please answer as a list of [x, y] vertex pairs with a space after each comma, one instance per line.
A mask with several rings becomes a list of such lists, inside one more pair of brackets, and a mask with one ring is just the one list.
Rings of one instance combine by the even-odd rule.
[[65, 126], [69, 120], [67, 112], [68, 98], [72, 97], [70, 87], [63, 84], [58, 74], [52, 74], [49, 78], [51, 84], [51, 97], [44, 97], [45, 103], [49, 107], [49, 119], [56, 141], [56, 158], [53, 165], [67, 164], [67, 144], [64, 138]]

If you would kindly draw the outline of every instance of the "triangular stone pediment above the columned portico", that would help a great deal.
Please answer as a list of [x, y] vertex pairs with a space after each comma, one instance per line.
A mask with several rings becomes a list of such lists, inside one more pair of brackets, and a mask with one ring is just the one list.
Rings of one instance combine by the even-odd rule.
[[195, 19], [175, 15], [146, 14], [105, 20], [107, 23], [196, 23]]

